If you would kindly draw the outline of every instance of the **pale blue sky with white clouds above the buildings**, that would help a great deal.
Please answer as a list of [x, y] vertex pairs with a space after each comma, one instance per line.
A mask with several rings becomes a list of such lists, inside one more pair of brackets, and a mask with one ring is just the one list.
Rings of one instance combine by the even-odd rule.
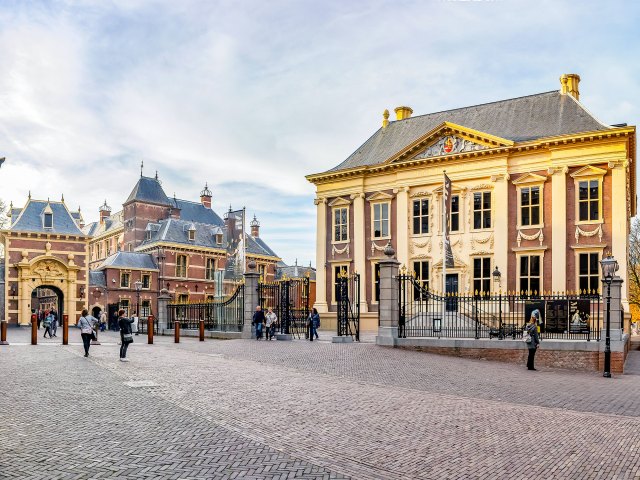
[[[381, 125], [559, 89], [640, 120], [636, 1], [0, 0], [0, 199], [117, 211], [144, 174], [315, 266], [314, 187]], [[393, 116], [393, 113], [392, 113]]]

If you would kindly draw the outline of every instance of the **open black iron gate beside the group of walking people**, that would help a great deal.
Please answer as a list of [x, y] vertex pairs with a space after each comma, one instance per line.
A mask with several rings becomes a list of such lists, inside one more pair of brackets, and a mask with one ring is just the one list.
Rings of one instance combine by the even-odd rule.
[[309, 317], [309, 279], [293, 278], [277, 282], [259, 283], [260, 307], [278, 316], [280, 333], [292, 334], [296, 338], [307, 335]]

